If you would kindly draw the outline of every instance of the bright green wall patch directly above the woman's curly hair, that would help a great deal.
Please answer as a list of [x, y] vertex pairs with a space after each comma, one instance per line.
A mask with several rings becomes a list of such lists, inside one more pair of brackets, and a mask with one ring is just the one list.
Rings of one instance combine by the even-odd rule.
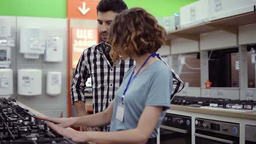
[[155, 17], [171, 16], [179, 13], [179, 8], [198, 0], [124, 0], [128, 8], [142, 7]]

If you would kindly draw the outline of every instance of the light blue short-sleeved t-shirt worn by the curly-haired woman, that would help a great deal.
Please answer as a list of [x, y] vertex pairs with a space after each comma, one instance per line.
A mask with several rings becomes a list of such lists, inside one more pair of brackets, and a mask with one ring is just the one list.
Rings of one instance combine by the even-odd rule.
[[[150, 138], [158, 135], [162, 119], [166, 110], [170, 107], [170, 96], [172, 93], [172, 71], [162, 61], [156, 61], [145, 68], [130, 83], [124, 97], [124, 121], [116, 117], [118, 104], [129, 81], [135, 66], [133, 65], [125, 74], [121, 86], [115, 93], [113, 115], [110, 123], [110, 131], [134, 129], [137, 127], [139, 118], [145, 106], [163, 106], [161, 117]], [[150, 120], [149, 120], [150, 121]]]

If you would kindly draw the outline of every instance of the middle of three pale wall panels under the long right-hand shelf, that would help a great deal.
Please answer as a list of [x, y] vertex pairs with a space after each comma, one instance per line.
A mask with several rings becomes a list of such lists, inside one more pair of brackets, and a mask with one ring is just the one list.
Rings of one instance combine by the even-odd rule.
[[234, 47], [237, 45], [236, 34], [215, 31], [200, 35], [200, 50], [213, 50]]

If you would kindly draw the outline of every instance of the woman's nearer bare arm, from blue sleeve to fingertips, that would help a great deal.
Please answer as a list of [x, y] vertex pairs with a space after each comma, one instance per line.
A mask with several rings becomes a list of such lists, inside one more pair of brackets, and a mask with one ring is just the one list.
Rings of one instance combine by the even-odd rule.
[[143, 110], [137, 128], [123, 131], [101, 132], [101, 131], [78, 131], [69, 133], [68, 130], [50, 125], [57, 133], [66, 136], [73, 141], [98, 142], [98, 143], [146, 143], [152, 134], [159, 117], [161, 116], [161, 106], [146, 106]]

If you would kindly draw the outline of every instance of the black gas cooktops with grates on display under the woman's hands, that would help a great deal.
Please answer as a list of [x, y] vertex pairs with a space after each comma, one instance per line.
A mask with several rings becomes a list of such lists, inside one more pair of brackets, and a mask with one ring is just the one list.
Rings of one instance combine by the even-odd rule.
[[0, 143], [75, 143], [49, 129], [14, 99], [0, 98]]

